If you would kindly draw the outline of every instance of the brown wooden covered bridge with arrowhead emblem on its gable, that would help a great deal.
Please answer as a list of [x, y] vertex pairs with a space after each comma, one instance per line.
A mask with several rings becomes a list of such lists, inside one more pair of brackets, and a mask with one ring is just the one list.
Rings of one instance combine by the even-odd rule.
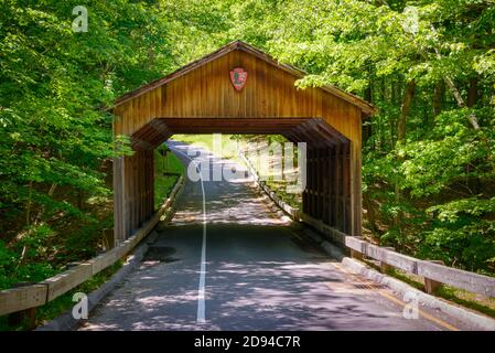
[[136, 153], [114, 162], [115, 238], [155, 212], [153, 149], [174, 133], [277, 133], [308, 143], [303, 213], [361, 235], [363, 99], [332, 86], [298, 89], [305, 74], [239, 41], [120, 97], [114, 135]]

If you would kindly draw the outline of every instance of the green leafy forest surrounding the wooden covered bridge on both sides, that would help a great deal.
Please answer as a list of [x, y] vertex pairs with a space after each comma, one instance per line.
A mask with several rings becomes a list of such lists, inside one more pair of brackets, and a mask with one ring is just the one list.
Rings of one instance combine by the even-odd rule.
[[366, 237], [495, 275], [494, 0], [0, 0], [1, 288], [101, 250], [130, 153], [106, 107], [235, 40], [377, 107]]

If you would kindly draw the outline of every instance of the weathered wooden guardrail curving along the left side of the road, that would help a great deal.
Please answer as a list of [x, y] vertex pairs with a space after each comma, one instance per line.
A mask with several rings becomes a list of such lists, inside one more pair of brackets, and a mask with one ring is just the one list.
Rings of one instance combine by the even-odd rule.
[[146, 222], [141, 228], [137, 229], [132, 236], [107, 253], [77, 265], [62, 274], [53, 276], [42, 282], [1, 290], [0, 317], [30, 308], [41, 307], [77, 287], [129, 254], [154, 228], [163, 213], [172, 205], [183, 183], [184, 178], [180, 176], [169, 197], [160, 206], [153, 217]]

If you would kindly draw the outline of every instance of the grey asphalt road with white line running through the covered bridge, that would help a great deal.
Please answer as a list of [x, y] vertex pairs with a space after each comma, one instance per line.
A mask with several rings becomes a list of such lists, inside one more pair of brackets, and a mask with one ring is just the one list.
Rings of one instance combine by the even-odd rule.
[[[185, 153], [183, 145], [173, 148]], [[402, 298], [349, 274], [304, 240], [306, 232], [275, 213], [244, 176], [187, 180], [141, 266], [79, 330], [470, 329], [424, 308], [405, 318]]]

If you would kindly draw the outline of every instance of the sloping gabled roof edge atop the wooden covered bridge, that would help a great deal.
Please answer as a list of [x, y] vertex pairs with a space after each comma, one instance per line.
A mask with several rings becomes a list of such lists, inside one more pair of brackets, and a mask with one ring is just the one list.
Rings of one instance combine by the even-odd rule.
[[[273, 57], [271, 57], [267, 53], [265, 53], [245, 42], [234, 41], [232, 43], [228, 43], [228, 44], [222, 46], [219, 50], [217, 50], [211, 54], [207, 54], [185, 66], [180, 67], [179, 69], [174, 71], [173, 73], [171, 73], [164, 77], [152, 81], [149, 84], [146, 84], [134, 90], [131, 90], [131, 92], [122, 95], [115, 101], [114, 107], [119, 106], [119, 105], [121, 105], [134, 97], [138, 97], [149, 90], [152, 90], [159, 86], [162, 86], [177, 77], [181, 77], [182, 75], [185, 75], [189, 72], [191, 72], [206, 63], [209, 63], [220, 56], [224, 56], [233, 51], [243, 51], [243, 52], [249, 53], [251, 55], [255, 55], [256, 57], [269, 63], [270, 65], [273, 65], [273, 66], [276, 66], [284, 72], [288, 72], [299, 78], [302, 78], [305, 75], [308, 75], [308, 73], [305, 73], [304, 71], [297, 68], [292, 65], [282, 64], [282, 63], [276, 61]], [[351, 93], [340, 89], [335, 86], [325, 85], [325, 86], [322, 86], [319, 88], [326, 90], [326, 92], [333, 94], [334, 96], [337, 96], [337, 97], [359, 107], [362, 109], [362, 111], [365, 113], [366, 115], [372, 115], [376, 111], [375, 107], [372, 104], [367, 103], [366, 100], [364, 100]]]

